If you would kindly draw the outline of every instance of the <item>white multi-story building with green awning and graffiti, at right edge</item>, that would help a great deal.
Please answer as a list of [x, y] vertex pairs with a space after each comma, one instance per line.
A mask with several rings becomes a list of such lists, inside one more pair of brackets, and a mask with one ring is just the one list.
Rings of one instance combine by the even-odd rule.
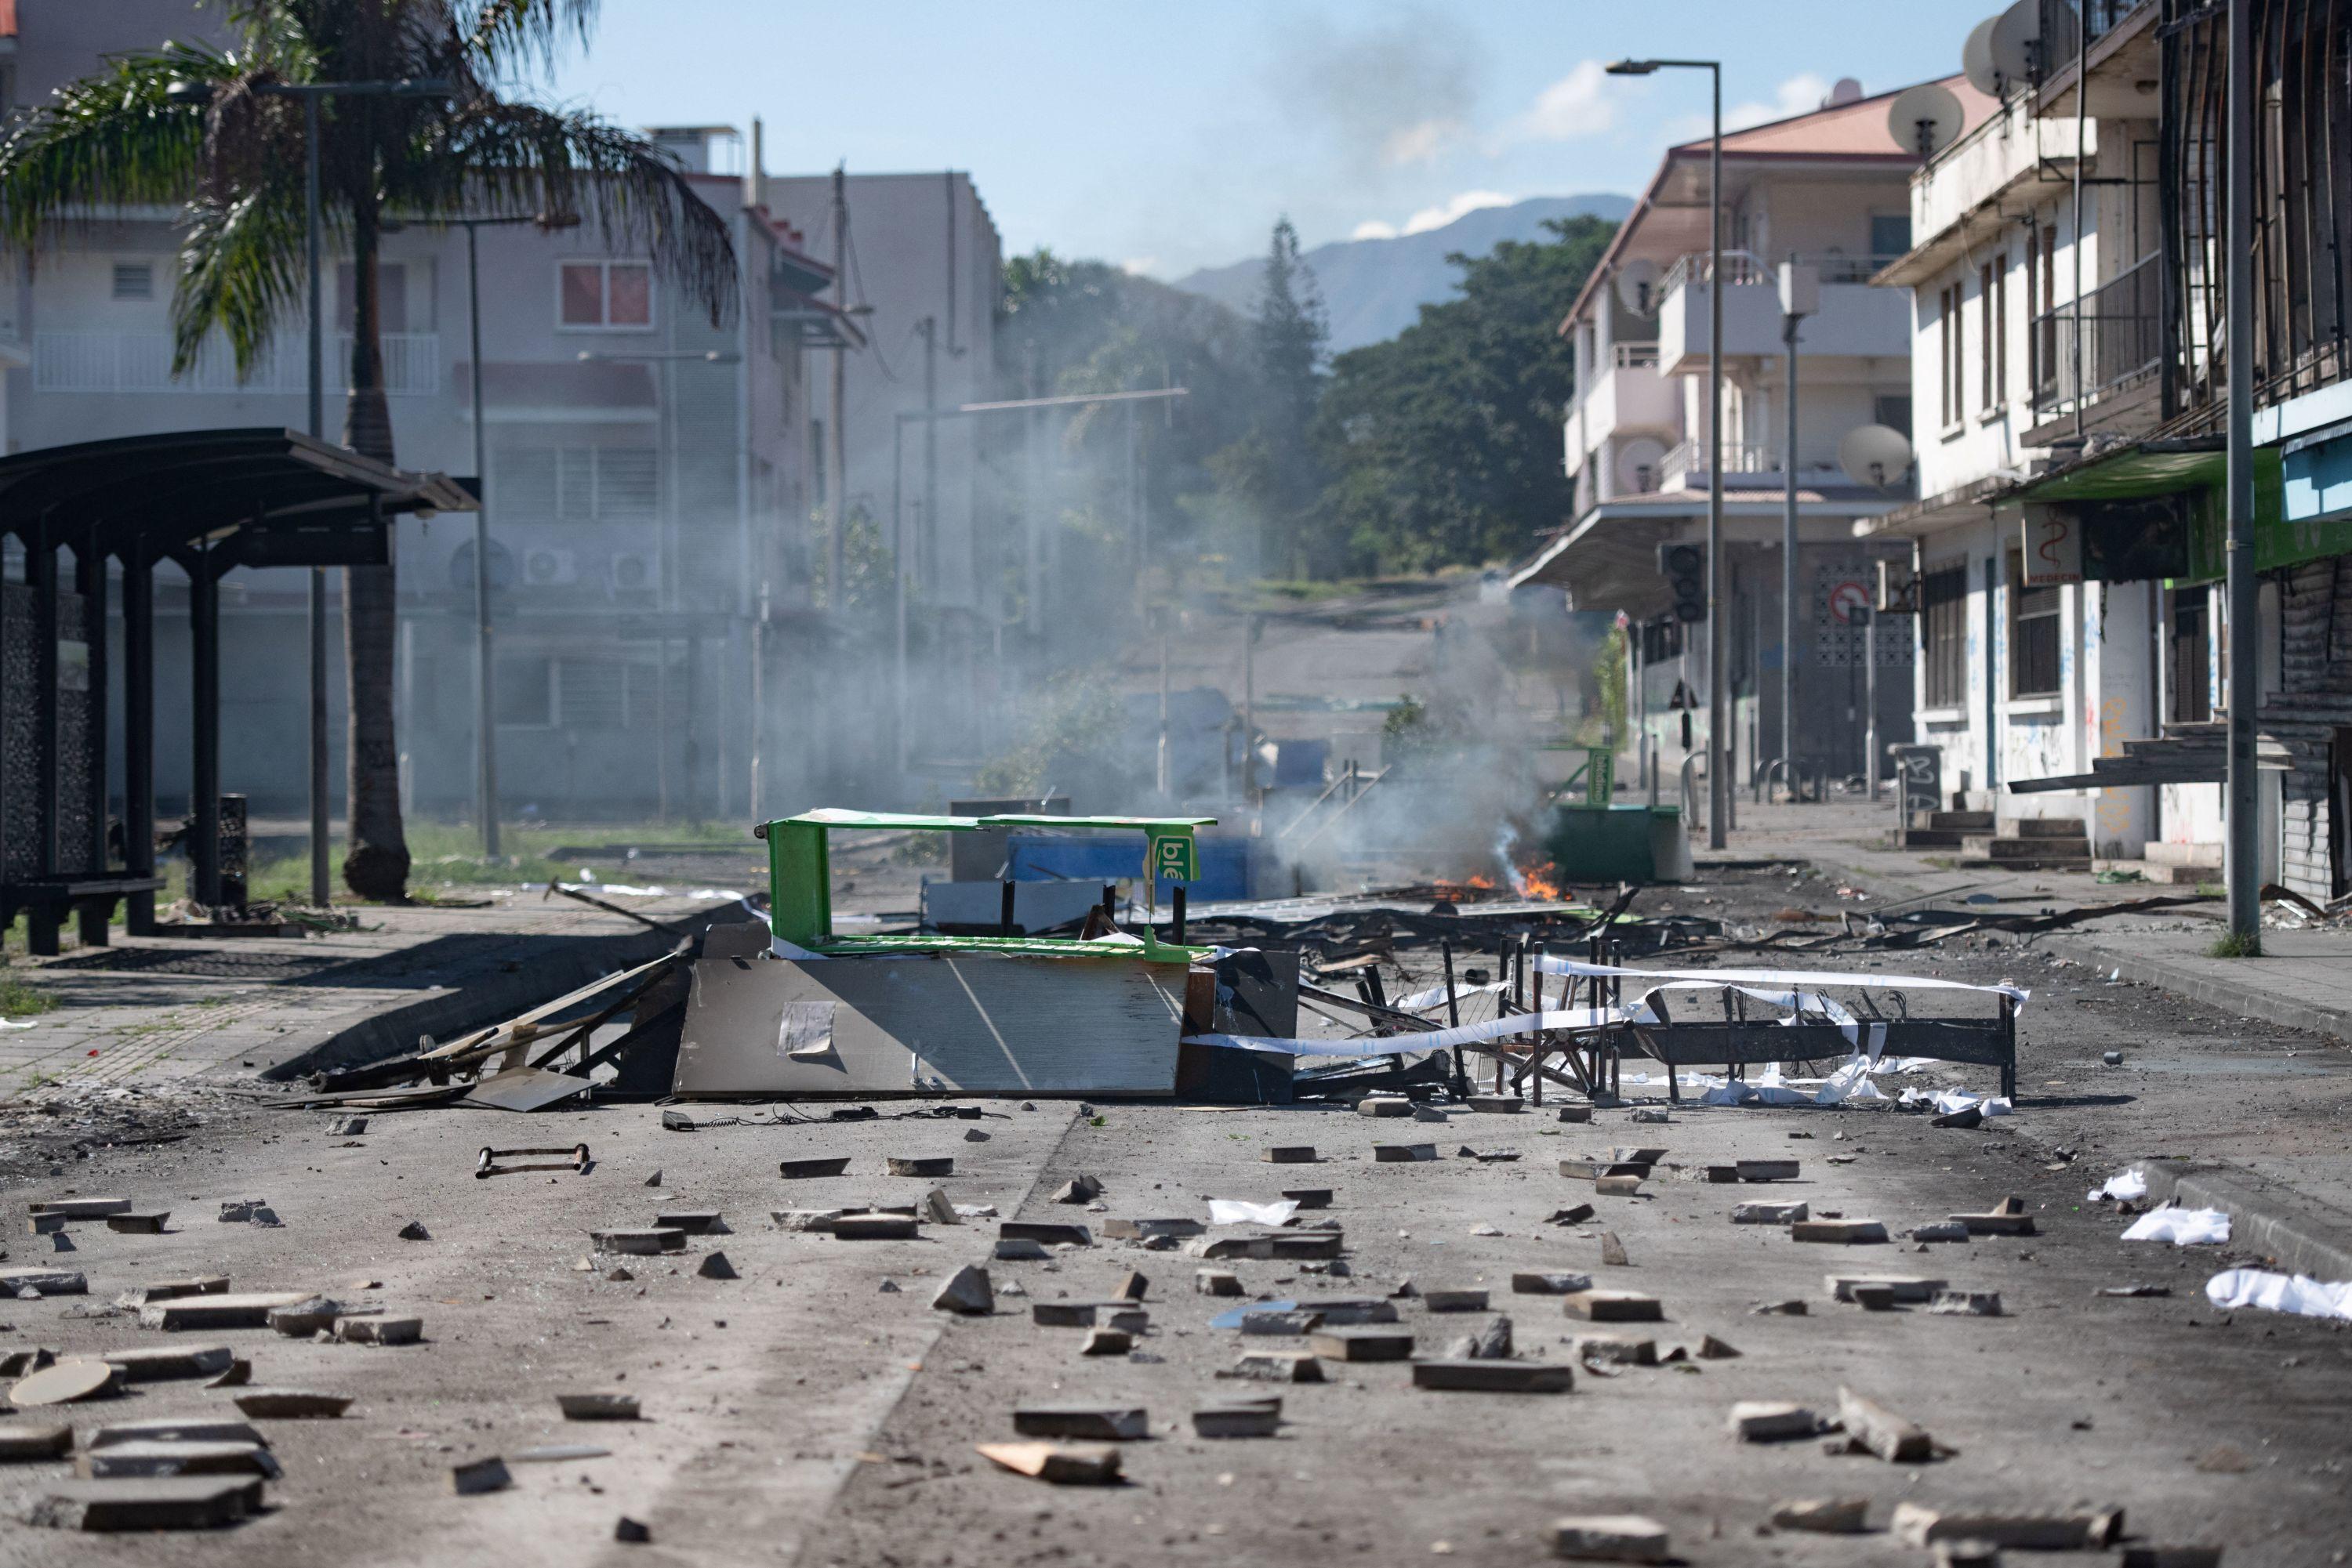
[[[1973, 856], [2223, 867], [2225, 19], [2180, 0], [2037, 0], [1999, 113], [1912, 186], [1922, 741]], [[2256, 637], [2263, 879], [2352, 882], [2352, 374], [2333, 235], [2352, 181], [2347, 42], [2256, 5]], [[2300, 63], [2298, 63], [2300, 61]], [[2312, 73], [2319, 75], [2312, 75]], [[2326, 71], [2336, 71], [2331, 78]], [[2284, 127], [2300, 127], [2284, 134]]]

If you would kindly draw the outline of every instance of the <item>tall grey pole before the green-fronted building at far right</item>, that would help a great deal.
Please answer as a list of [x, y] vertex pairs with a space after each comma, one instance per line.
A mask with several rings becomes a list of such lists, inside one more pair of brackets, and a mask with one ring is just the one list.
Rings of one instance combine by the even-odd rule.
[[[2082, 78], [2074, 94], [2082, 96]], [[2227, 882], [2230, 936], [2244, 957], [2263, 952], [2263, 863], [2256, 844], [2253, 708], [2256, 578], [2253, 578], [2253, 5], [2230, 0], [2230, 799]], [[2082, 237], [2077, 230], [2077, 252]], [[2079, 310], [2079, 306], [2077, 306]], [[2082, 334], [2077, 331], [2077, 339]], [[2082, 388], [2077, 388], [2079, 393]]]

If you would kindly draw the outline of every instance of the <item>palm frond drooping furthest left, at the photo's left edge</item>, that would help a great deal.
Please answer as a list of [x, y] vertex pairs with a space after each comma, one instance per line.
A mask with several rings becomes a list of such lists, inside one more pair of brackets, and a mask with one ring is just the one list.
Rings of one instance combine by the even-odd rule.
[[174, 80], [223, 82], [235, 61], [202, 45], [118, 54], [66, 82], [0, 141], [0, 237], [33, 249], [54, 219], [106, 207], [176, 207], [198, 183], [205, 110], [174, 103]]

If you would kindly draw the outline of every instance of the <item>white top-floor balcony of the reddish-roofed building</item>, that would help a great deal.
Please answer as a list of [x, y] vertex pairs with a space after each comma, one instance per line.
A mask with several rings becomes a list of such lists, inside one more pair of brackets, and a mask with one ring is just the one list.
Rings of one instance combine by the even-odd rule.
[[[1886, 256], [1797, 256], [1820, 268], [1820, 310], [1797, 329], [1799, 357], [1910, 357], [1912, 301], [1903, 289], [1872, 289]], [[1661, 280], [1658, 369], [1691, 376], [1708, 369], [1708, 259], [1684, 256]], [[1745, 252], [1724, 254], [1724, 353], [1776, 360], [1780, 341], [1780, 273]]]

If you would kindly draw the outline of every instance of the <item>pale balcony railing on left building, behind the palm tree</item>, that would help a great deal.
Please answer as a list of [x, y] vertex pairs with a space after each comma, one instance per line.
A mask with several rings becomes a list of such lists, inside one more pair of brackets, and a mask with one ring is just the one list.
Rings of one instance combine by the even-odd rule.
[[[430, 397], [440, 390], [440, 334], [383, 334], [383, 390], [393, 397]], [[299, 395], [310, 378], [303, 369], [301, 331], [282, 334], [238, 378], [226, 343], [212, 343], [183, 376], [172, 374], [172, 334], [167, 331], [35, 331], [33, 390], [38, 393], [209, 393], [209, 395]], [[329, 390], [350, 390], [350, 334], [336, 334], [327, 348], [325, 378]]]

